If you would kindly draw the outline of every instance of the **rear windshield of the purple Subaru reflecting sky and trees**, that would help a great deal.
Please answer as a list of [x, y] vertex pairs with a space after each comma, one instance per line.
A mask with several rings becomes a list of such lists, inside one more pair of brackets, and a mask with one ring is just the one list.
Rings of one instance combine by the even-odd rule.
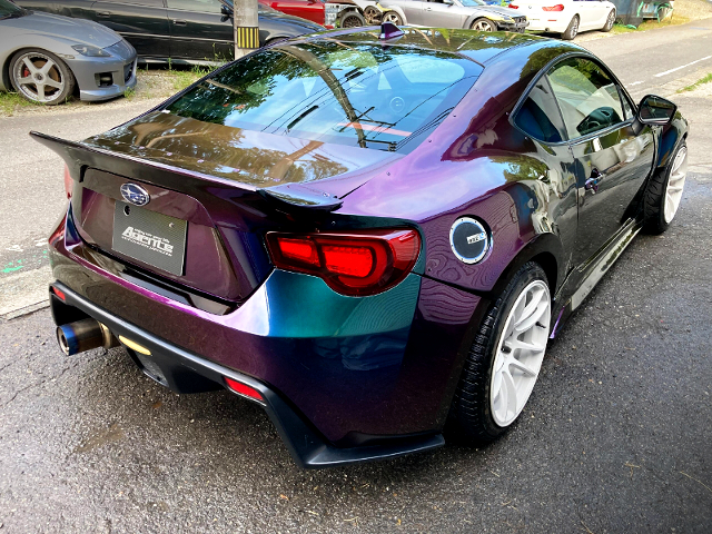
[[481, 71], [448, 52], [310, 41], [238, 61], [167, 109], [247, 130], [409, 151], [453, 110]]

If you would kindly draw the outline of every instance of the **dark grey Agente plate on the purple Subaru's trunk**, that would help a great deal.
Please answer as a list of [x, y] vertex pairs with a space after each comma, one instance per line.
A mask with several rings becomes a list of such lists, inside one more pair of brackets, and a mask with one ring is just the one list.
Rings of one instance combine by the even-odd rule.
[[116, 201], [111, 248], [172, 275], [182, 276], [188, 221]]

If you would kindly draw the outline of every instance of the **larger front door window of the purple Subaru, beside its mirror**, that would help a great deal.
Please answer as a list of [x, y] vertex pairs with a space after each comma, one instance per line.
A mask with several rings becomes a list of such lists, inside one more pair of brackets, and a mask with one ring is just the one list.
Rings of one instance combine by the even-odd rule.
[[603, 130], [623, 121], [617, 86], [596, 63], [572, 58], [547, 75], [570, 139]]

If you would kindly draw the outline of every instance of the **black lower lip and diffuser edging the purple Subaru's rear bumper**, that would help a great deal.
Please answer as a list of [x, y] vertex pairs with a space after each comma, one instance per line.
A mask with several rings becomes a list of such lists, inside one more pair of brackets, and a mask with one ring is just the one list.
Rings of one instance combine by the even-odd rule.
[[[142, 356], [141, 359], [145, 362], [146, 358], [150, 358], [152, 363], [150, 369], [141, 365], [141, 360], [137, 360], [137, 364], [150, 378], [156, 379], [161, 385], [178, 392], [190, 390], [191, 387], [197, 385], [200, 390], [205, 390], [206, 386], [204, 384], [196, 384], [196, 378], [201, 377], [215, 384], [217, 389], [220, 386], [225, 387], [225, 378], [228, 377], [257, 389], [261, 394], [264, 402], [250, 400], [263, 406], [267, 412], [279, 436], [287, 445], [291, 457], [300, 467], [329, 467], [392, 458], [404, 454], [429, 451], [445, 444], [441, 434], [426, 434], [397, 438], [378, 445], [335, 447], [305, 422], [278, 393], [264, 383], [172, 345], [100, 308], [65, 284], [58, 281], [52, 286], [59, 289], [66, 298], [65, 303], [62, 303], [50, 293], [52, 316], [57, 324], [63, 323], [62, 317], [68, 317], [71, 314], [77, 317], [76, 310], [79, 310], [81, 314], [103, 323], [115, 336], [123, 336], [148, 348], [151, 353], [150, 356]], [[75, 309], [68, 310], [68, 306]], [[137, 359], [136, 355], [132, 356]], [[157, 378], [155, 374], [156, 368], [160, 369], [160, 378]]]

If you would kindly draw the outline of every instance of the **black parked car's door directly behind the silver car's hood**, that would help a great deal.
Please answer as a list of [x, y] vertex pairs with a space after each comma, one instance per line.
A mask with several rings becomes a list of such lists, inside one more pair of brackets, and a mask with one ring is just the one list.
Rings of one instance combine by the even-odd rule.
[[164, 0], [98, 1], [92, 20], [108, 26], [129, 41], [142, 58], [168, 58], [170, 32]]

